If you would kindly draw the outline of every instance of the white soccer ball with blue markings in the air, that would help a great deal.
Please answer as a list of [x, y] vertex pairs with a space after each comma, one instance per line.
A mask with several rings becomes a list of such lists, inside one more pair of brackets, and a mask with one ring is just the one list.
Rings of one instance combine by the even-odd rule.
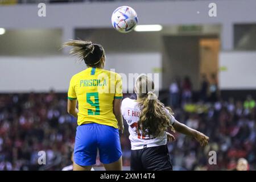
[[115, 30], [121, 33], [132, 31], [138, 23], [136, 11], [129, 6], [121, 6], [115, 9], [111, 20]]

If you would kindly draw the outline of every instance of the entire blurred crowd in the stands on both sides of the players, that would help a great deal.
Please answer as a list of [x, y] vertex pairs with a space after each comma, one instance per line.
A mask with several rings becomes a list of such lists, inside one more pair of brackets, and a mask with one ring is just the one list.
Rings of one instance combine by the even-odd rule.
[[[203, 148], [194, 139], [175, 133], [176, 142], [168, 143], [174, 169], [232, 170], [238, 159], [245, 158], [248, 169], [255, 170], [253, 98], [248, 96], [243, 102], [218, 97], [211, 100], [206, 94], [198, 102], [191, 102], [192, 96], [187, 92], [189, 84], [184, 84], [184, 88], [187, 90], [178, 92], [181, 99], [174, 106], [175, 118], [208, 135], [210, 142]], [[67, 114], [66, 107], [66, 94], [0, 94], [0, 171], [61, 170], [72, 164], [77, 123]], [[129, 133], [124, 123], [123, 166], [130, 166]], [[46, 152], [45, 165], [38, 163], [39, 151]], [[209, 164], [209, 151], [216, 152], [216, 164]], [[95, 166], [102, 166], [98, 158]]]

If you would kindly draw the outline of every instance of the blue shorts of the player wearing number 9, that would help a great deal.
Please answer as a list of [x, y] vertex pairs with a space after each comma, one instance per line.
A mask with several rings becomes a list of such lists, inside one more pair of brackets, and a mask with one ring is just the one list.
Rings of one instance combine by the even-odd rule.
[[101, 163], [116, 162], [122, 156], [118, 129], [98, 123], [77, 126], [74, 162], [79, 166], [96, 164], [97, 149]]

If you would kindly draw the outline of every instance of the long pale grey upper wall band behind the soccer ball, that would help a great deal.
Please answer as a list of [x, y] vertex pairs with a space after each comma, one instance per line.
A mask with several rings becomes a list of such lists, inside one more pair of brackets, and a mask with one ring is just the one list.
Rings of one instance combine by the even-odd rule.
[[[217, 4], [217, 17], [208, 15], [209, 3]], [[22, 27], [112, 27], [110, 17], [118, 6], [133, 7], [141, 24], [211, 24], [255, 22], [255, 0], [94, 2], [47, 4], [46, 17], [38, 16], [38, 5], [0, 6], [0, 24]], [[188, 8], [189, 7], [189, 8]], [[197, 11], [200, 13], [197, 14]]]

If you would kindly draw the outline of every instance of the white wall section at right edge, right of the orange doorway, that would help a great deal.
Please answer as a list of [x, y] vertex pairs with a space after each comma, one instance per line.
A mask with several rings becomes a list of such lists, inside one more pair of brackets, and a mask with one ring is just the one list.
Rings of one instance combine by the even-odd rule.
[[220, 52], [220, 89], [256, 89], [256, 52]]

